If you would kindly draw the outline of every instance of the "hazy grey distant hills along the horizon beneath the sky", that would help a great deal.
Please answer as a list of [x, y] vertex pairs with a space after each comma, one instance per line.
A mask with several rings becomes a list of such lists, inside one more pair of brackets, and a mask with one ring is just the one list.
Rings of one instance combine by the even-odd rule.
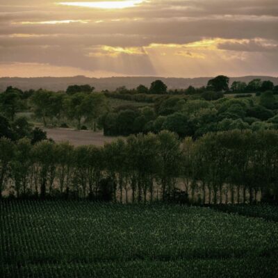
[[[189, 85], [194, 87], [201, 87], [206, 85], [208, 80], [212, 77], [198, 77], [193, 79], [186, 78], [164, 78], [164, 77], [109, 77], [109, 78], [90, 78], [86, 76], [74, 76], [74, 77], [36, 77], [36, 78], [19, 78], [19, 77], [2, 77], [0, 78], [0, 92], [6, 90], [8, 86], [17, 87], [22, 90], [40, 88], [47, 90], [66, 90], [68, 85], [81, 85], [90, 84], [93, 85], [97, 91], [101, 90], [115, 90], [116, 88], [125, 85], [126, 88], [136, 88], [138, 85], [149, 85], [156, 79], [161, 79], [167, 84], [169, 89], [181, 89], [188, 88]], [[275, 85], [278, 85], [278, 77], [272, 76], [243, 76], [231, 78], [230, 84], [233, 81], [245, 81], [248, 83], [252, 79], [259, 78], [262, 80], [270, 80]]]

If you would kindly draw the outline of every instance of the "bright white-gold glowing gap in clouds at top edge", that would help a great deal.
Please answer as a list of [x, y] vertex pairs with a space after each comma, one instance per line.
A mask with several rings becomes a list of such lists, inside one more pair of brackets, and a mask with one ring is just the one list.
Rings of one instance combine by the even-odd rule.
[[62, 6], [76, 6], [83, 8], [100, 8], [100, 9], [122, 9], [132, 8], [144, 0], [127, 0], [127, 1], [91, 1], [91, 2], [59, 2]]

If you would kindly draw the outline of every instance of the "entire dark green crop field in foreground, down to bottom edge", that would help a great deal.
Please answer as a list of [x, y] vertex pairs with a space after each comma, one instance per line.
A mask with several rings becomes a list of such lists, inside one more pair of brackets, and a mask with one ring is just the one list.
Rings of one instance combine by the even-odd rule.
[[0, 220], [0, 277], [277, 277], [278, 222], [254, 215], [3, 200]]

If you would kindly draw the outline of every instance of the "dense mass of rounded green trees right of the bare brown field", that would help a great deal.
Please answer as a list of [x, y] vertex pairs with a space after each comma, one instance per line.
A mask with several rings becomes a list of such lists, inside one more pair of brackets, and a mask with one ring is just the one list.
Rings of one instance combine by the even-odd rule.
[[99, 126], [109, 136], [132, 133], [158, 133], [163, 129], [180, 137], [198, 138], [205, 133], [250, 129], [278, 129], [277, 101], [272, 92], [253, 98], [216, 101], [190, 100], [181, 96], [157, 99], [154, 107], [122, 107], [99, 118]]

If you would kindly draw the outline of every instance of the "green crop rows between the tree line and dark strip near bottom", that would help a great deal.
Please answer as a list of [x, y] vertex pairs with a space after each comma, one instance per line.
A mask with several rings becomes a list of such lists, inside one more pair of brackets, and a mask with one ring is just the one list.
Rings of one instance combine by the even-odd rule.
[[1, 201], [1, 262], [103, 263], [276, 254], [278, 224], [211, 208]]

